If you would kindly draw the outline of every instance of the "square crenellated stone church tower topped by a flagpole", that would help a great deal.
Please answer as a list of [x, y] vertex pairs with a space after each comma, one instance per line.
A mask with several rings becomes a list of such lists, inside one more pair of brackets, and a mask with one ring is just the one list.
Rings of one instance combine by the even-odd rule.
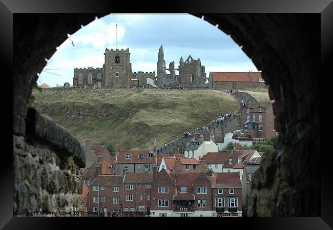
[[105, 76], [103, 86], [107, 88], [128, 89], [131, 85], [132, 77], [130, 50], [106, 49], [103, 76]]

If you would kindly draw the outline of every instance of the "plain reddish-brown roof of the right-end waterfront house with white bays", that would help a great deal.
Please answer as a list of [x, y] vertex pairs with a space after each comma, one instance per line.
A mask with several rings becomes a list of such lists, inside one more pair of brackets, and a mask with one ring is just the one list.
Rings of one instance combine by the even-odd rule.
[[241, 187], [238, 172], [233, 173], [214, 173], [210, 177], [213, 187]]

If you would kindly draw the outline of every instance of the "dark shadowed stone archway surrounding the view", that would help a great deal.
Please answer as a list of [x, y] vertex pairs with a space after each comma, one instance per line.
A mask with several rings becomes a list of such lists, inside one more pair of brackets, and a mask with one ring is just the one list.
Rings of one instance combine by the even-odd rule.
[[[80, 25], [92, 22], [95, 16], [103, 15], [105, 14], [14, 16], [14, 140], [20, 138], [22, 145], [36, 145], [36, 142], [29, 142], [29, 139], [33, 139], [30, 137], [38, 133], [30, 132], [38, 123], [31, 116], [38, 116], [34, 115], [35, 112], [30, 112], [32, 115], [29, 119], [26, 104], [36, 83], [36, 74], [46, 65], [45, 59], [53, 55], [55, 48], [66, 40], [68, 33], [72, 34]], [[266, 153], [262, 167], [255, 175], [249, 215], [319, 216], [320, 15], [204, 16], [207, 22], [218, 24], [219, 29], [230, 34], [237, 44], [243, 46], [243, 51], [263, 71], [270, 96], [275, 99], [276, 129], [280, 132], [275, 143], [277, 150]], [[59, 148], [52, 151], [59, 158], [61, 154], [73, 155], [77, 152], [65, 143], [61, 145], [61, 140], [39, 135], [38, 143], [43, 142], [44, 148], [47, 145], [52, 149], [52, 141], [58, 141]], [[16, 147], [13, 147], [14, 158], [19, 155], [15, 150]], [[84, 161], [82, 157], [74, 159], [77, 165]], [[18, 167], [15, 162], [14, 160], [14, 172]], [[17, 183], [22, 182], [20, 179], [22, 178], [15, 178]], [[76, 192], [80, 193], [80, 190]], [[20, 191], [14, 189], [14, 193], [19, 195]], [[35, 196], [38, 198], [37, 194]], [[14, 195], [14, 199], [18, 199], [17, 197], [19, 196]]]

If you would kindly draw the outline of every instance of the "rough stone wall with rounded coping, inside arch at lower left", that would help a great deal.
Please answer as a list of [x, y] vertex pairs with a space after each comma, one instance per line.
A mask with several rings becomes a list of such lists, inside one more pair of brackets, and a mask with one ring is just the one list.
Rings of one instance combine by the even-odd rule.
[[25, 134], [13, 135], [13, 216], [81, 216], [84, 149], [50, 117], [32, 107], [24, 115]]

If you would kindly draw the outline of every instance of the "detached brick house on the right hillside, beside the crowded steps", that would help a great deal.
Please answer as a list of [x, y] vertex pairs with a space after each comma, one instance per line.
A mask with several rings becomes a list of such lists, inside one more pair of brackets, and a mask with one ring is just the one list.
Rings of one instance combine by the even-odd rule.
[[241, 108], [243, 130], [251, 134], [252, 138], [266, 140], [276, 136], [272, 102], [266, 107], [260, 104], [247, 103]]

